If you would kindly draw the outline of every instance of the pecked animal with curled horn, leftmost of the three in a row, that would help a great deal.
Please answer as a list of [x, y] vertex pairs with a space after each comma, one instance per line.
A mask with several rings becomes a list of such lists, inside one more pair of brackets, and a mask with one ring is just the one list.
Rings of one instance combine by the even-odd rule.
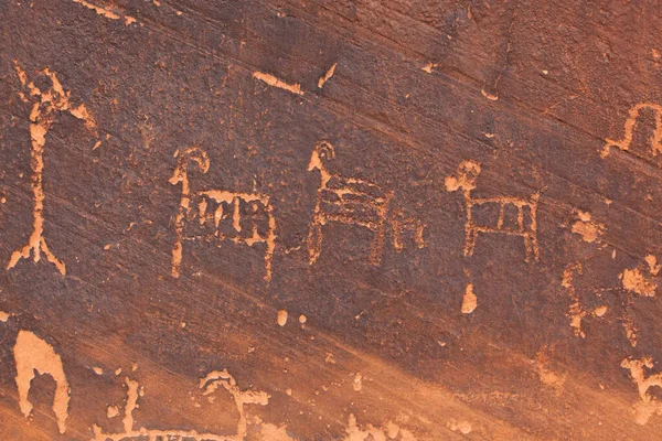
[[[210, 169], [210, 159], [205, 151], [192, 147], [183, 152], [177, 152], [178, 165], [170, 178], [172, 185], [182, 185], [179, 212], [174, 218], [175, 243], [172, 248], [172, 277], [178, 278], [181, 272], [182, 251], [184, 240], [196, 240], [200, 235], [186, 236], [184, 227], [186, 220], [197, 217], [199, 228], [212, 229], [207, 239], [232, 240], [235, 244], [244, 244], [253, 247], [256, 244], [265, 244], [265, 280], [271, 280], [271, 260], [276, 249], [276, 219], [269, 196], [256, 193], [231, 192], [226, 190], [191, 191], [189, 181], [189, 164], [193, 162], [206, 173]], [[192, 207], [195, 206], [195, 208]], [[213, 207], [215, 206], [215, 207]], [[242, 213], [242, 207], [247, 206], [249, 215]], [[221, 220], [232, 220], [231, 233], [222, 233]], [[260, 232], [259, 222], [266, 218], [266, 232]], [[246, 230], [243, 224], [250, 224]]]

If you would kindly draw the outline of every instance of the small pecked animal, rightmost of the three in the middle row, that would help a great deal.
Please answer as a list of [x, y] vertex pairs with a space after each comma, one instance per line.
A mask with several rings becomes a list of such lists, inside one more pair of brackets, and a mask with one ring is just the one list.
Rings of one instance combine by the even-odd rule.
[[[458, 166], [457, 176], [447, 176], [446, 190], [455, 192], [462, 189], [465, 195], [465, 207], [467, 211], [467, 222], [465, 224], [465, 256], [473, 256], [476, 240], [479, 233], [482, 234], [505, 234], [519, 236], [524, 239], [526, 249], [525, 260], [531, 261], [540, 258], [537, 243], [537, 203], [540, 193], [533, 194], [528, 200], [496, 196], [496, 197], [473, 197], [471, 191], [476, 189], [476, 180], [480, 174], [480, 164], [474, 161], [463, 161]], [[493, 206], [498, 208], [498, 218], [494, 225], [482, 225], [474, 218], [474, 207]], [[509, 207], [516, 209], [516, 225], [504, 223], [505, 211]]]

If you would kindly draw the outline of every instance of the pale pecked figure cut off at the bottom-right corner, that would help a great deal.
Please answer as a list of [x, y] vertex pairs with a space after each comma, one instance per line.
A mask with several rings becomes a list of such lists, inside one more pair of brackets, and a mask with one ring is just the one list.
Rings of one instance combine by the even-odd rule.
[[643, 426], [653, 415], [662, 416], [662, 404], [649, 392], [652, 387], [662, 387], [662, 374], [645, 375], [647, 369], [653, 368], [653, 359], [651, 357], [626, 358], [621, 362], [621, 367], [630, 370], [641, 398], [641, 401], [634, 405], [634, 422]]

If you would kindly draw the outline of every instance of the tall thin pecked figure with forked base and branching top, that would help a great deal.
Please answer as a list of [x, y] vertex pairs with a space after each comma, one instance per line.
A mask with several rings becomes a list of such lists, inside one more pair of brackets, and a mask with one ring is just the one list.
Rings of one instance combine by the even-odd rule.
[[[7, 269], [13, 268], [20, 259], [28, 259], [30, 254], [33, 255], [33, 260], [39, 262], [43, 252], [46, 260], [55, 266], [55, 268], [64, 276], [66, 275], [66, 266], [64, 261], [55, 257], [50, 250], [44, 237], [44, 200], [43, 190], [43, 172], [44, 172], [44, 148], [46, 143], [46, 135], [55, 122], [55, 117], [58, 111], [68, 111], [72, 116], [83, 120], [85, 126], [94, 130], [96, 122], [87, 111], [85, 105], [74, 107], [70, 101], [71, 93], [64, 90], [55, 73], [47, 68], [40, 72], [51, 82], [51, 88], [42, 92], [34, 83], [28, 80], [28, 75], [14, 62], [14, 67], [21, 85], [26, 94], [21, 94], [21, 99], [25, 103], [32, 103], [32, 111], [30, 112], [30, 141], [32, 150], [31, 168], [32, 168], [32, 192], [34, 195], [34, 207], [32, 211], [33, 224], [32, 234], [28, 240], [28, 245], [13, 251]], [[95, 132], [96, 136], [96, 132]], [[98, 138], [98, 137], [97, 137]]]

